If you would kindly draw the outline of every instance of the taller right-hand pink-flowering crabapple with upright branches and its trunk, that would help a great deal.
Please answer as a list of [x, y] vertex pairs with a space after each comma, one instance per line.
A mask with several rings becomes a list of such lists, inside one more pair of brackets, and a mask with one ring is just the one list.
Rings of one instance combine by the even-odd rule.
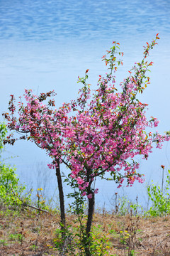
[[[94, 213], [94, 198], [98, 188], [94, 187], [97, 177], [105, 178], [111, 174], [118, 187], [126, 179], [128, 186], [135, 181], [142, 183], [143, 175], [137, 173], [139, 163], [134, 157], [141, 155], [147, 159], [152, 152], [153, 143], [162, 148], [162, 143], [169, 140], [169, 132], [161, 135], [158, 132], [147, 132], [148, 128], [157, 127], [159, 121], [151, 117], [147, 120], [145, 110], [147, 104], [137, 99], [137, 93], [142, 93], [149, 84], [146, 72], [152, 62], [146, 58], [159, 39], [158, 35], [151, 44], [147, 43], [141, 63], [136, 63], [130, 70], [130, 75], [120, 83], [121, 92], [115, 87], [116, 59], [118, 43], [108, 50], [108, 56], [103, 60], [111, 70], [106, 77], [99, 77], [98, 89], [91, 93], [90, 85], [85, 78], [79, 78], [83, 87], [80, 96], [72, 101], [72, 134], [67, 138], [67, 166], [72, 171], [69, 176], [77, 183], [82, 196], [89, 200], [86, 235], [90, 236]], [[74, 136], [73, 136], [74, 134]], [[68, 133], [69, 136], [69, 133]], [[89, 255], [87, 253], [87, 255]]]

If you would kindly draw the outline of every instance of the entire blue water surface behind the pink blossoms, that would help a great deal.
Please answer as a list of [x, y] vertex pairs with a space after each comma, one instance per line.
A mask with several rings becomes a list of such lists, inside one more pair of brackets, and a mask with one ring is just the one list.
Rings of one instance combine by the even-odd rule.
[[[128, 76], [128, 70], [142, 59], [145, 42], [159, 33], [161, 40], [150, 54], [154, 62], [151, 85], [141, 100], [149, 104], [148, 117], [160, 119], [158, 130], [170, 129], [169, 67], [170, 67], [170, 2], [169, 0], [13, 0], [0, 1], [0, 112], [8, 110], [9, 95], [23, 95], [24, 89], [35, 93], [55, 90], [57, 106], [77, 95], [78, 75], [89, 68], [89, 82], [94, 88], [98, 75], [107, 70], [101, 56], [111, 48], [112, 41], [120, 43], [125, 53], [123, 67], [116, 75], [117, 83]], [[3, 120], [2, 117], [0, 117]], [[55, 174], [47, 169], [50, 159], [34, 144], [18, 142], [6, 146], [6, 159], [16, 164], [22, 182], [45, 188], [52, 196], [56, 187]], [[147, 182], [162, 178], [163, 164], [169, 168], [169, 143], [164, 149], [153, 150], [148, 161], [140, 161], [140, 171]], [[62, 171], [67, 170], [62, 166]], [[118, 193], [142, 203], [147, 202], [147, 182]], [[65, 191], [68, 191], [64, 185]], [[96, 203], [111, 208], [115, 183], [97, 181], [99, 193]]]

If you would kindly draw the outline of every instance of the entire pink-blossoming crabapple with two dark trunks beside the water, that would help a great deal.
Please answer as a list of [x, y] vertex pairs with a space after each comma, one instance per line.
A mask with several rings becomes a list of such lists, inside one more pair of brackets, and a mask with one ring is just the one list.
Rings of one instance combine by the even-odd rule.
[[[27, 139], [45, 149], [52, 158], [49, 167], [56, 170], [59, 194], [61, 221], [65, 224], [64, 196], [60, 164], [64, 163], [69, 172], [71, 183], [76, 184], [81, 196], [87, 196], [89, 201], [86, 236], [89, 238], [94, 213], [94, 199], [98, 188], [95, 188], [97, 177], [106, 178], [111, 174], [118, 187], [124, 180], [128, 186], [135, 181], [142, 183], [142, 174], [137, 173], [139, 164], [134, 157], [141, 155], [147, 159], [152, 152], [153, 143], [162, 148], [162, 143], [169, 140], [169, 132], [161, 135], [158, 132], [147, 132], [148, 128], [157, 127], [159, 121], [151, 117], [147, 120], [145, 110], [147, 104], [137, 99], [149, 84], [146, 72], [151, 63], [146, 58], [149, 50], [157, 44], [158, 35], [152, 43], [147, 43], [141, 63], [136, 63], [130, 70], [128, 78], [120, 83], [120, 92], [115, 87], [118, 43], [103, 56], [110, 73], [99, 76], [98, 87], [92, 91], [85, 77], [79, 78], [83, 87], [79, 97], [62, 107], [55, 109], [54, 100], [43, 103], [55, 92], [33, 95], [31, 90], [25, 90], [26, 105], [18, 103], [18, 117], [13, 95], [9, 102], [9, 113], [4, 117], [8, 120], [8, 129], [23, 133], [18, 139]], [[9, 134], [4, 143], [13, 144], [16, 139]], [[86, 252], [86, 255], [90, 255]]]

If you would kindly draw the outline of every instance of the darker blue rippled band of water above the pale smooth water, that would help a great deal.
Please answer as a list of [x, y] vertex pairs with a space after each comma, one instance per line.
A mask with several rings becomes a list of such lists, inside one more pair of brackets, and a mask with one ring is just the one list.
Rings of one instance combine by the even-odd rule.
[[169, 0], [1, 0], [0, 14], [3, 40], [91, 40], [170, 28]]

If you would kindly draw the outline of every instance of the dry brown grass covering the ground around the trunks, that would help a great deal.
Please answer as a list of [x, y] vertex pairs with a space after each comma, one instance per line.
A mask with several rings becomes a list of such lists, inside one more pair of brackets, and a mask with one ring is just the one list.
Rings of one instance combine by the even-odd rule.
[[[73, 215], [67, 216], [67, 223], [74, 225], [73, 220]], [[60, 215], [57, 213], [37, 215], [21, 211], [17, 215], [12, 212], [6, 215], [6, 211], [1, 211], [0, 255], [58, 255], [53, 240], [55, 230], [60, 228], [59, 221]], [[128, 255], [127, 247], [140, 256], [170, 255], [169, 217], [146, 219], [130, 215], [95, 214], [94, 226], [99, 227], [101, 234], [105, 234], [111, 242], [112, 249], [108, 255]]]

